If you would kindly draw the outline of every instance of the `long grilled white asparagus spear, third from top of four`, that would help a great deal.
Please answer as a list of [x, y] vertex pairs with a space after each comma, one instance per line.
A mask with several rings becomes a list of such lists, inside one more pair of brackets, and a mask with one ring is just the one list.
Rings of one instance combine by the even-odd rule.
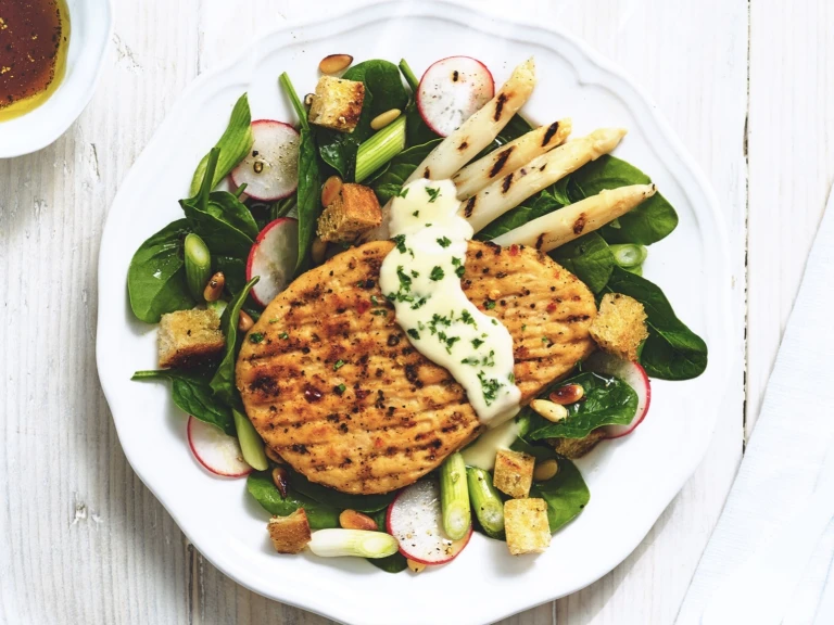
[[622, 128], [601, 128], [587, 137], [568, 141], [483, 188], [464, 202], [459, 214], [478, 232], [530, 195], [607, 154], [624, 136]]

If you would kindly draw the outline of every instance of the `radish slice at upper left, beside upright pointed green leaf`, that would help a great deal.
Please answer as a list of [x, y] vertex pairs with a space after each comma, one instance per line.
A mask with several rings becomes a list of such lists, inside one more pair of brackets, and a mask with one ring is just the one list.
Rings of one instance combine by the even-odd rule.
[[231, 170], [235, 188], [247, 184], [247, 195], [271, 202], [292, 194], [299, 186], [299, 132], [283, 122], [252, 122], [255, 139], [243, 161]]

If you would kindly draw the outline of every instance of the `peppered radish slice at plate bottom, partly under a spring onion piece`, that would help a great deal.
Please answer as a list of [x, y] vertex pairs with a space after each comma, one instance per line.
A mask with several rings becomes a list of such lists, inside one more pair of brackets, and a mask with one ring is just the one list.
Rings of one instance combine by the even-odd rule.
[[422, 564], [444, 564], [460, 553], [469, 543], [472, 526], [459, 540], [443, 531], [440, 485], [421, 480], [404, 488], [388, 507], [388, 533], [400, 543], [400, 552]]

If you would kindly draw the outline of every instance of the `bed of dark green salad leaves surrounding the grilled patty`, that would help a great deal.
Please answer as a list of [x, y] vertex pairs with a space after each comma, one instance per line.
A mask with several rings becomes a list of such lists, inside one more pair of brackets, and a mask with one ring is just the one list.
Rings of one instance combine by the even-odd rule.
[[[384, 60], [365, 61], [348, 69], [343, 78], [362, 81], [365, 86], [362, 114], [351, 133], [311, 125], [306, 107], [290, 78], [287, 74], [280, 76], [280, 86], [299, 119], [298, 188], [289, 197], [271, 203], [247, 199], [244, 187], [233, 191], [217, 189], [253, 148], [247, 94], [238, 100], [226, 131], [194, 171], [190, 196], [179, 202], [182, 217], [141, 244], [127, 277], [132, 312], [147, 323], [157, 323], [165, 314], [205, 304], [199, 293], [189, 289], [187, 275], [185, 240], [189, 234], [199, 235], [211, 254], [211, 272], [222, 271], [226, 280], [222, 301], [208, 304], [216, 306], [218, 311], [223, 309], [223, 357], [211, 366], [138, 371], [134, 379], [169, 381], [172, 397], [178, 408], [229, 436], [238, 436], [244, 458], [256, 469], [249, 474], [247, 488], [270, 514], [286, 516], [303, 508], [309, 526], [320, 530], [339, 527], [340, 512], [352, 509], [368, 513], [384, 531], [386, 511], [395, 493], [346, 495], [290, 471], [289, 486], [282, 495], [267, 471], [274, 464], [267, 463], [265, 458], [260, 460], [263, 444], [242, 416], [242, 403], [235, 385], [235, 363], [245, 334], [238, 329], [241, 311], [257, 319], [262, 310], [250, 295], [257, 277], [247, 281], [247, 259], [264, 227], [288, 214], [296, 217], [299, 253], [294, 270], [298, 276], [312, 265], [311, 246], [326, 178], [338, 175], [345, 182], [361, 178], [383, 205], [400, 193], [408, 176], [442, 140], [417, 110], [418, 80], [405, 61], [399, 66]], [[392, 109], [404, 112], [403, 122], [394, 128], [375, 131], [371, 120]], [[516, 115], [484, 153], [531, 129], [525, 118]], [[378, 141], [383, 132], [388, 132], [382, 137], [386, 141]], [[369, 143], [371, 141], [375, 143]], [[377, 143], [388, 148], [378, 149]], [[392, 144], [395, 145], [393, 150]], [[489, 241], [605, 189], [647, 182], [649, 178], [633, 165], [604, 155], [495, 219], [477, 238]], [[677, 226], [674, 208], [658, 193], [614, 222], [551, 252], [557, 263], [578, 276], [598, 298], [606, 293], [621, 293], [643, 304], [648, 339], [642, 346], [640, 362], [649, 377], [664, 380], [692, 379], [707, 366], [704, 341], [675, 316], [660, 288], [641, 276], [647, 253], [645, 246], [668, 237]], [[557, 422], [544, 419], [529, 407], [522, 409], [517, 417], [520, 435], [513, 445], [513, 449], [533, 455], [538, 460], [555, 459], [558, 462], [558, 472], [534, 483], [531, 490], [531, 496], [546, 501], [552, 532], [582, 511], [590, 500], [590, 493], [577, 467], [545, 442], [548, 438], [583, 438], [598, 428], [627, 425], [637, 409], [635, 391], [617, 377], [583, 371], [578, 366], [571, 378], [556, 385], [569, 383], [582, 386], [584, 400], [569, 406], [567, 418]], [[547, 397], [552, 390], [541, 397]], [[260, 455], [254, 449], [258, 445]], [[476, 530], [483, 531], [475, 516], [473, 522]], [[405, 558], [400, 553], [371, 562], [390, 572], [406, 567]]]

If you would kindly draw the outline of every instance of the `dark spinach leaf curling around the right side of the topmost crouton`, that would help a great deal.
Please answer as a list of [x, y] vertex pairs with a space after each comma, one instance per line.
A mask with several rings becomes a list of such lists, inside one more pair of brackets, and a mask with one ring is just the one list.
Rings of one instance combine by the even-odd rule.
[[359, 143], [374, 133], [371, 119], [391, 109], [403, 111], [408, 94], [403, 87], [400, 69], [389, 61], [365, 61], [348, 69], [342, 78], [365, 85], [362, 115], [353, 132], [319, 129], [318, 151], [321, 160], [339, 171], [344, 180], [352, 180]]

